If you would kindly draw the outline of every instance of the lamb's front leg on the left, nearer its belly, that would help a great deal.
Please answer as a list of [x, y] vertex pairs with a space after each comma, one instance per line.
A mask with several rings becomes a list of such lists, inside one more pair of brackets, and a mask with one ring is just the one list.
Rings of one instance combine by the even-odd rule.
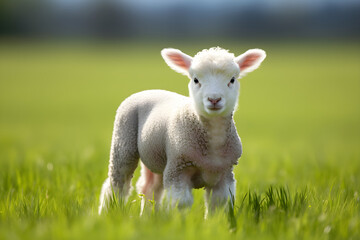
[[183, 209], [193, 204], [190, 171], [181, 167], [165, 168], [163, 181], [166, 194], [163, 202], [171, 208], [178, 206]]

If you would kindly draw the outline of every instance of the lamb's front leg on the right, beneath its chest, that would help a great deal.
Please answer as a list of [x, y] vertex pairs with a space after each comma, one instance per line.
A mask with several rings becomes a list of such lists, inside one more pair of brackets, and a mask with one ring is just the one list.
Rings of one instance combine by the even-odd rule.
[[205, 218], [207, 217], [209, 212], [214, 212], [217, 207], [224, 207], [228, 200], [230, 200], [232, 197], [235, 197], [235, 184], [236, 180], [234, 178], [234, 173], [231, 169], [224, 174], [224, 176], [215, 186], [206, 187]]

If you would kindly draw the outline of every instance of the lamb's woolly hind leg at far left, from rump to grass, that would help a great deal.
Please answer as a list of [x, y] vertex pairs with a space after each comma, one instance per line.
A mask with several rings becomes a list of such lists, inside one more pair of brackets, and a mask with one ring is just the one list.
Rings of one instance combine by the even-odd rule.
[[111, 143], [109, 178], [105, 180], [100, 195], [99, 214], [113, 200], [113, 193], [127, 200], [131, 179], [139, 162], [137, 148], [137, 117], [134, 114], [116, 115]]

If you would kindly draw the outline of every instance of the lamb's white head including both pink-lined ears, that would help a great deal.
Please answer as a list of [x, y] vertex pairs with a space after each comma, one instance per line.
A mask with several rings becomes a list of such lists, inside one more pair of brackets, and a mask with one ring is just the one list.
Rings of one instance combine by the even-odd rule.
[[196, 112], [204, 117], [232, 114], [239, 96], [237, 79], [258, 68], [266, 57], [261, 49], [235, 57], [219, 47], [205, 49], [194, 57], [172, 48], [163, 49], [161, 55], [173, 70], [190, 78], [190, 97]]

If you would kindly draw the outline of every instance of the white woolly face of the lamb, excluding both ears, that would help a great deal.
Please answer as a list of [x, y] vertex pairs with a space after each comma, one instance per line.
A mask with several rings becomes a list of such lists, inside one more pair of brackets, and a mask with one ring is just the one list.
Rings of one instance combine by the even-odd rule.
[[223, 49], [198, 53], [189, 69], [189, 92], [198, 114], [228, 116], [237, 104], [240, 69], [233, 54]]

